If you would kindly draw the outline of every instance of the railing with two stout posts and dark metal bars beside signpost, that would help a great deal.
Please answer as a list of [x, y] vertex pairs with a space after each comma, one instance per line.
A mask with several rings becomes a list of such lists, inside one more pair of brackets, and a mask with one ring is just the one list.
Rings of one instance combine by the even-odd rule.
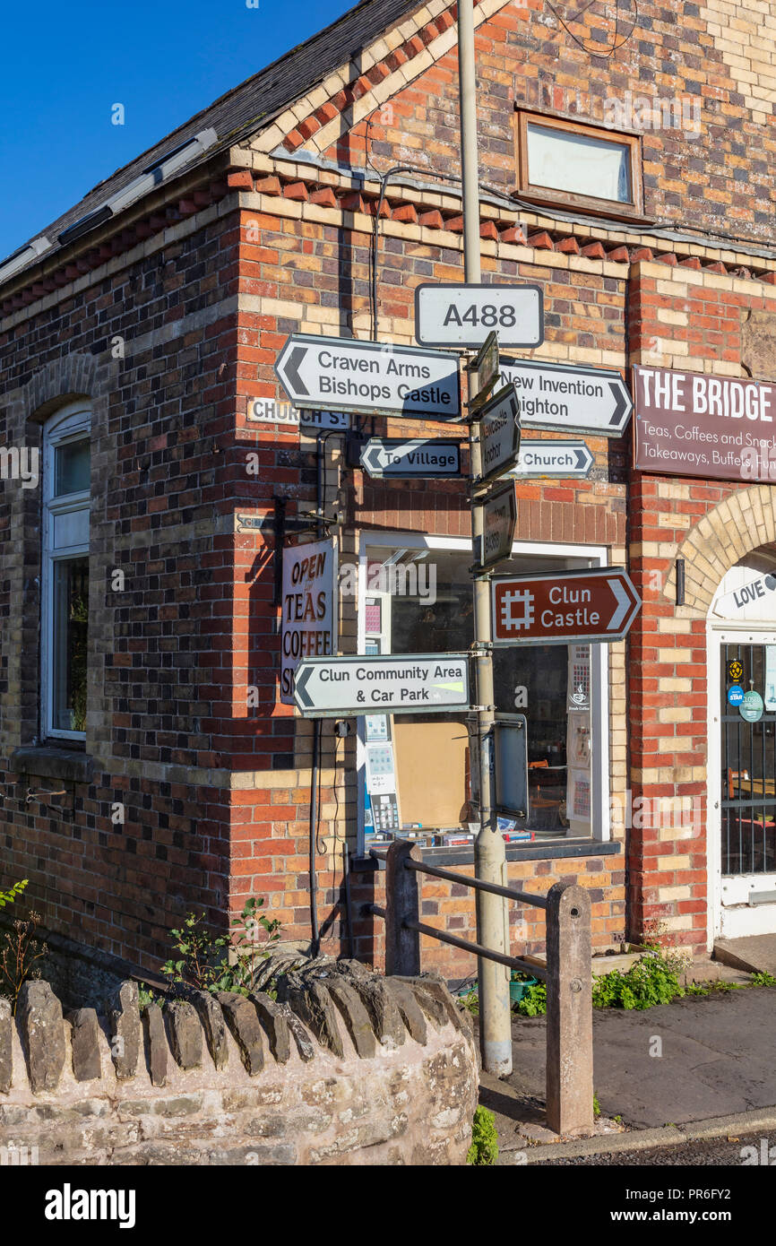
[[[421, 972], [420, 936], [471, 952], [542, 978], [547, 984], [547, 1125], [557, 1134], [574, 1135], [593, 1129], [593, 1002], [590, 971], [590, 897], [577, 883], [557, 882], [546, 896], [517, 887], [470, 878], [455, 870], [427, 865], [407, 840], [395, 840], [386, 858], [386, 905], [370, 905], [385, 920], [385, 972], [416, 977]], [[504, 956], [471, 939], [448, 934], [420, 921], [419, 877], [431, 875], [488, 891], [547, 913], [547, 964]]]

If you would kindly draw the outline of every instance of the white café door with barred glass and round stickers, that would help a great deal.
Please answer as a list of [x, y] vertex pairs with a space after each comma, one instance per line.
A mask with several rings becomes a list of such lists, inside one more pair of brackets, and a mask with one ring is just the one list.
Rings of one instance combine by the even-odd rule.
[[[757, 693], [761, 705], [741, 701], [746, 693]], [[776, 630], [709, 629], [707, 781], [710, 933], [774, 933]]]

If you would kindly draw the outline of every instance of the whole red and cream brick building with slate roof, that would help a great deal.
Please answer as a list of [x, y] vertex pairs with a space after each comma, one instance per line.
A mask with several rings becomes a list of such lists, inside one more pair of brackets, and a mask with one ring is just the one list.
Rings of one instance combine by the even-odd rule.
[[[483, 280], [543, 290], [534, 360], [638, 366], [669, 394], [705, 375], [749, 402], [776, 375], [776, 24], [754, 2], [646, 2], [617, 26], [561, 7], [475, 9]], [[187, 910], [223, 923], [262, 895], [284, 938], [309, 943], [313, 908], [324, 951], [379, 964], [370, 743], [391, 746], [400, 825], [472, 868], [463, 716], [319, 740], [279, 684], [278, 554], [316, 531], [339, 549], [341, 653], [471, 640], [463, 485], [353, 466], [355, 435], [460, 425], [300, 426], [274, 374], [290, 333], [415, 341], [416, 285], [463, 279], [457, 171], [455, 6], [364, 0], [0, 264], [0, 881], [31, 880], [60, 947], [152, 971]], [[512, 566], [627, 564], [644, 606], [619, 644], [502, 652], [497, 710], [526, 714], [529, 763], [504, 825], [533, 836], [508, 877], [589, 887], [599, 949], [660, 931], [705, 952], [776, 928], [776, 621], [741, 593], [776, 566], [776, 490], [757, 440], [754, 466], [709, 466], [701, 421], [695, 457], [666, 454], [635, 397], [646, 467], [630, 425], [523, 404], [524, 445], [570, 432], [594, 467], [516, 480]], [[751, 721], [726, 699], [735, 662], [762, 684]], [[473, 926], [457, 886], [427, 881], [423, 913]], [[513, 947], [541, 949], [542, 915], [512, 918]]]

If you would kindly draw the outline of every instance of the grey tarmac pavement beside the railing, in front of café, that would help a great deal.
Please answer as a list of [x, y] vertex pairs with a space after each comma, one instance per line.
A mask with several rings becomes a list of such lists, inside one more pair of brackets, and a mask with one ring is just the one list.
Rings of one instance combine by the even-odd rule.
[[686, 997], [643, 1012], [593, 1009], [602, 1115], [595, 1136], [582, 1141], [559, 1144], [544, 1126], [544, 1018], [516, 1017], [512, 1035], [512, 1075], [481, 1075], [481, 1103], [496, 1114], [503, 1163], [509, 1151], [533, 1148], [549, 1159], [547, 1148], [558, 1145], [559, 1154], [585, 1145], [594, 1154], [671, 1145], [706, 1129], [717, 1131], [710, 1136], [776, 1131], [774, 988]]

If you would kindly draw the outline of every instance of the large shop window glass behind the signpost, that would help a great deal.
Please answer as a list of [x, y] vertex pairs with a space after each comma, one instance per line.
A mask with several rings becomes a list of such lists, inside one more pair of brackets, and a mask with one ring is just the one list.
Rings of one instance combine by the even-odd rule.
[[[589, 557], [573, 554], [516, 554], [503, 571], [590, 564]], [[470, 567], [468, 548], [370, 545], [362, 566], [361, 652], [468, 649], [473, 640]], [[499, 809], [507, 842], [604, 835], [607, 750], [599, 693], [605, 654], [600, 648], [605, 647], [494, 650], [499, 751], [507, 770], [522, 766], [527, 775], [524, 807], [502, 804]], [[365, 847], [390, 842], [395, 834], [426, 847], [471, 847], [478, 830], [478, 765], [470, 726], [473, 718], [470, 721], [466, 713], [374, 714], [360, 720]]]

